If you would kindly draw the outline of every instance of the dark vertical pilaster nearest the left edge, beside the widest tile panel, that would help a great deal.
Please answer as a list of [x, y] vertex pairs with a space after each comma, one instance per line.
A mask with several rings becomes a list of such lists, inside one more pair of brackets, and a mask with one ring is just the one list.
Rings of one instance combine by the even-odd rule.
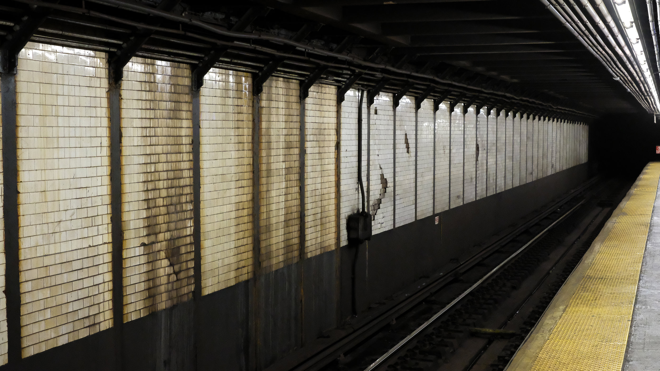
[[18, 173], [16, 163], [16, 74], [0, 76], [2, 95], [2, 159], [5, 217], [5, 298], [7, 300], [7, 356], [9, 364], [21, 359], [20, 282], [18, 277]]

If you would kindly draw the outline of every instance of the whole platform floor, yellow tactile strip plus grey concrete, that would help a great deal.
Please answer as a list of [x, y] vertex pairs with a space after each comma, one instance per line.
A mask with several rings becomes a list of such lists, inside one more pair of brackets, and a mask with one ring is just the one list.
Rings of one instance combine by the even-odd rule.
[[507, 371], [660, 369], [659, 179], [649, 163]]

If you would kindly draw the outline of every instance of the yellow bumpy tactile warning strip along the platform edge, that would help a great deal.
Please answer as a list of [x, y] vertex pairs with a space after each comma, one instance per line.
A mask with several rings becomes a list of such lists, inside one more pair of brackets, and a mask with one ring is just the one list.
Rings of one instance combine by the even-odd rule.
[[659, 178], [646, 165], [507, 371], [621, 370]]

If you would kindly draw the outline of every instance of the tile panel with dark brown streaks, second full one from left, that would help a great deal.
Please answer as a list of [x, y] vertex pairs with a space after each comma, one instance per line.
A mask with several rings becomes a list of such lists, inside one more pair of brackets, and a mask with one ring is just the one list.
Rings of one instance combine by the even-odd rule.
[[124, 320], [193, 292], [190, 69], [133, 58], [121, 85]]

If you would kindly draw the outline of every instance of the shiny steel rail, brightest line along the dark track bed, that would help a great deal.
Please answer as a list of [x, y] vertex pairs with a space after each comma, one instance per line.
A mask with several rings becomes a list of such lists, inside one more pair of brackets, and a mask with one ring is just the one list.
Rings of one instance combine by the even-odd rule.
[[463, 291], [463, 293], [461, 293], [461, 295], [459, 295], [456, 299], [451, 300], [451, 302], [450, 302], [449, 304], [447, 304], [447, 306], [445, 306], [444, 308], [442, 308], [442, 310], [440, 310], [440, 312], [434, 314], [434, 316], [431, 317], [428, 321], [424, 322], [424, 324], [422, 324], [422, 326], [419, 326], [419, 327], [418, 327], [417, 329], [415, 329], [410, 335], [408, 335], [407, 337], [405, 337], [405, 339], [399, 341], [399, 343], [398, 343], [397, 345], [395, 345], [394, 347], [392, 347], [392, 349], [390, 349], [389, 351], [387, 351], [387, 353], [385, 353], [385, 354], [382, 355], [380, 358], [378, 358], [376, 361], [374, 361], [374, 363], [370, 364], [367, 368], [364, 369], [364, 371], [372, 371], [372, 370], [374, 370], [376, 367], [380, 366], [380, 364], [382, 364], [383, 361], [387, 360], [387, 358], [391, 357], [391, 355], [393, 355], [394, 353], [396, 353], [397, 351], [399, 351], [399, 349], [401, 349], [402, 347], [404, 347], [409, 341], [411, 341], [411, 339], [413, 339], [413, 337], [415, 337], [416, 335], [418, 335], [418, 333], [424, 331], [424, 329], [428, 328], [428, 326], [430, 326], [430, 324], [432, 324], [432, 323], [435, 322], [440, 316], [442, 316], [443, 314], [445, 314], [445, 313], [447, 312], [447, 310], [451, 309], [451, 308], [452, 308], [457, 302], [459, 302], [461, 299], [463, 299], [464, 297], [466, 297], [467, 295], [469, 295], [469, 293], [471, 293], [474, 289], [476, 289], [477, 287], [479, 287], [479, 285], [481, 285], [482, 283], [484, 283], [484, 281], [486, 281], [486, 279], [490, 278], [490, 276], [492, 276], [492, 275], [494, 275], [495, 273], [497, 273], [497, 271], [499, 271], [499, 270], [500, 270], [503, 266], [505, 266], [508, 262], [510, 262], [511, 260], [513, 260], [513, 258], [515, 258], [516, 256], [518, 256], [518, 254], [520, 254], [521, 252], [523, 252], [523, 250], [525, 250], [528, 246], [530, 246], [531, 244], [535, 243], [538, 239], [540, 239], [541, 237], [543, 237], [543, 235], [545, 235], [545, 233], [547, 233], [548, 231], [550, 231], [550, 229], [554, 228], [554, 226], [557, 225], [557, 223], [560, 223], [560, 221], [566, 219], [566, 217], [568, 217], [568, 215], [573, 214], [573, 212], [574, 212], [577, 208], [579, 208], [579, 206], [582, 206], [585, 202], [586, 202], [586, 200], [581, 200], [581, 201], [580, 201], [576, 206], [574, 206], [571, 210], [568, 210], [568, 212], [566, 212], [566, 214], [562, 215], [562, 216], [559, 217], [556, 221], [554, 221], [552, 224], [548, 225], [548, 227], [546, 227], [545, 229], [543, 229], [543, 231], [541, 231], [541, 233], [539, 233], [538, 235], [536, 235], [533, 239], [531, 239], [529, 242], [527, 242], [526, 244], [524, 244], [521, 248], [519, 248], [518, 250], [516, 250], [515, 252], [513, 252], [513, 254], [511, 254], [511, 256], [509, 256], [508, 258], [506, 258], [506, 260], [504, 260], [504, 262], [500, 263], [498, 266], [496, 266], [495, 268], [493, 268], [490, 272], [486, 273], [486, 275], [484, 275], [484, 277], [481, 277], [481, 279], [479, 279], [479, 281], [477, 281], [477, 282], [476, 282], [474, 285], [472, 285], [469, 289]]

